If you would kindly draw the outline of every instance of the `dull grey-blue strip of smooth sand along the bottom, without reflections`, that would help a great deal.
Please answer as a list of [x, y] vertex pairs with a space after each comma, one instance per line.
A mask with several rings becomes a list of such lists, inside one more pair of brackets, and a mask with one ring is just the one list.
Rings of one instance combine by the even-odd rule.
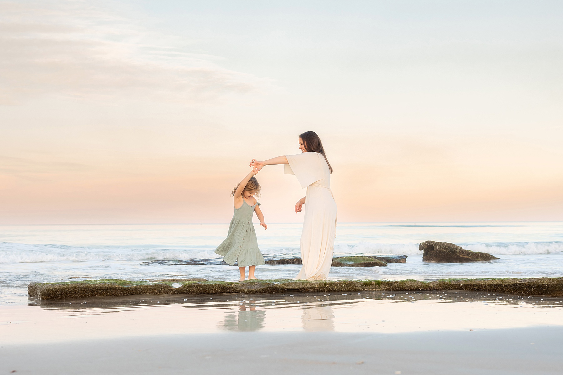
[[[0, 371], [41, 374], [560, 374], [563, 328], [226, 333], [10, 345]], [[534, 343], [531, 345], [531, 343]]]

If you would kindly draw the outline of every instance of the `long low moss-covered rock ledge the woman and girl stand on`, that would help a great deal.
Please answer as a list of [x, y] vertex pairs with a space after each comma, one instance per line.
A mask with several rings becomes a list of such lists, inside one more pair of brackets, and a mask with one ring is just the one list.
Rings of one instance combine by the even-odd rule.
[[29, 296], [42, 300], [162, 294], [431, 290], [467, 290], [556, 297], [563, 296], [563, 277], [443, 279], [428, 282], [417, 280], [249, 280], [243, 282], [207, 281], [205, 279], [163, 279], [154, 281], [86, 280], [31, 283], [28, 286]]

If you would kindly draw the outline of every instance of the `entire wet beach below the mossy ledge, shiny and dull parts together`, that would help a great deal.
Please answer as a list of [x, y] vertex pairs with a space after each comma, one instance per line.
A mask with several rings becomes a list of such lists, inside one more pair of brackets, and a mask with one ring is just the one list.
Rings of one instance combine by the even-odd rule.
[[556, 374], [561, 305], [463, 291], [30, 299], [0, 306], [0, 374]]

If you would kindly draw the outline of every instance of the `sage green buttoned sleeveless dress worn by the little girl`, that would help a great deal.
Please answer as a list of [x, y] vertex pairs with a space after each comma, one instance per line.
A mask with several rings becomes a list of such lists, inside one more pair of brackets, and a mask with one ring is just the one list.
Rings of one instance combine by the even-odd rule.
[[260, 203], [256, 202], [251, 206], [243, 199], [243, 205], [235, 209], [229, 225], [229, 234], [215, 249], [216, 254], [224, 256], [225, 263], [234, 265], [236, 262], [239, 267], [265, 264], [252, 224], [256, 205], [260, 206]]

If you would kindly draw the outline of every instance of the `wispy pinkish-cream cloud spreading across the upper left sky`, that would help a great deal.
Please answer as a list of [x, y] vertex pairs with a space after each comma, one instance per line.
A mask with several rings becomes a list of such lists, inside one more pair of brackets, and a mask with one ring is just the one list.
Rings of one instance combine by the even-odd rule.
[[0, 3], [0, 103], [44, 94], [198, 103], [266, 83], [83, 1]]

